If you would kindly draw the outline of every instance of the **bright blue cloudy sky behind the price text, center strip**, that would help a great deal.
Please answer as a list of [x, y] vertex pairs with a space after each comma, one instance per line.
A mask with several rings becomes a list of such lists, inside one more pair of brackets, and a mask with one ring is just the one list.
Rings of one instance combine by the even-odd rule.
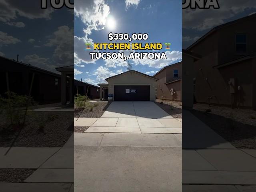
[[[74, 52], [75, 78], [91, 84], [105, 82], [105, 78], [125, 72], [127, 61], [91, 60], [85, 42], [110, 42], [112, 33], [147, 33], [147, 41], [170, 42], [167, 60], [130, 60], [133, 70], [154, 75], [164, 66], [179, 62], [182, 58], [182, 1], [181, 0], [126, 0], [81, 1], [75, 0]], [[108, 20], [116, 22], [116, 28], [108, 28]], [[113, 42], [113, 41], [112, 41]], [[116, 41], [118, 42], [118, 41]], [[122, 41], [126, 42], [126, 41]], [[118, 52], [119, 50], [115, 50]], [[108, 52], [111, 52], [108, 50]], [[130, 53], [129, 51], [127, 51]], [[139, 52], [139, 51], [136, 51]]]

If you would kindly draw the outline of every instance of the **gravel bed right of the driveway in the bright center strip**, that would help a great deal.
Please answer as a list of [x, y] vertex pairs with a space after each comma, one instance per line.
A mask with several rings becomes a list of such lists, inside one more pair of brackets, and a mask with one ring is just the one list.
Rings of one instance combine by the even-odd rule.
[[182, 102], [156, 99], [155, 104], [173, 118], [182, 118]]

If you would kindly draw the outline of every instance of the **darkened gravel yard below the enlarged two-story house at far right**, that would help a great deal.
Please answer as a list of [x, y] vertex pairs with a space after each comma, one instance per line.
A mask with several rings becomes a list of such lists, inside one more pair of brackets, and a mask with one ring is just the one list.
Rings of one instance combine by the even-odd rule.
[[256, 149], [256, 111], [194, 104], [192, 114], [239, 149]]

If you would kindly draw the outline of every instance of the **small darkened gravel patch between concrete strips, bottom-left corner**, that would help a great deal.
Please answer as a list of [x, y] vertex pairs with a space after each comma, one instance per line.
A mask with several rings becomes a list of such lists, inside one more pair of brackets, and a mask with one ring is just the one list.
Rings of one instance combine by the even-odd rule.
[[0, 182], [24, 182], [34, 171], [34, 169], [0, 169]]

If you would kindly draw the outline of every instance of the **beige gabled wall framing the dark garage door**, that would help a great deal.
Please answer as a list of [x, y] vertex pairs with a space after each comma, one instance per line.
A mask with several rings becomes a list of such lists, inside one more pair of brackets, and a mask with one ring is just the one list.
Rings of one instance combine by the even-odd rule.
[[108, 94], [113, 94], [113, 97], [114, 85], [150, 85], [150, 100], [156, 100], [156, 80], [136, 72], [122, 74], [108, 80]]

